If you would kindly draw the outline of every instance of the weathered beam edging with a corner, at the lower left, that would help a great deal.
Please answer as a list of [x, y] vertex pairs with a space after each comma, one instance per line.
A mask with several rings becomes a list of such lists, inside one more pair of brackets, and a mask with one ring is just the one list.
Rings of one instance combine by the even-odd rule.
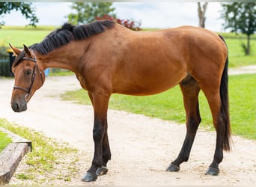
[[9, 183], [10, 178], [13, 177], [25, 153], [31, 150], [31, 141], [15, 135], [6, 129], [1, 128], [1, 131], [6, 132], [13, 139], [13, 143], [8, 144], [0, 153], [0, 185], [4, 185]]

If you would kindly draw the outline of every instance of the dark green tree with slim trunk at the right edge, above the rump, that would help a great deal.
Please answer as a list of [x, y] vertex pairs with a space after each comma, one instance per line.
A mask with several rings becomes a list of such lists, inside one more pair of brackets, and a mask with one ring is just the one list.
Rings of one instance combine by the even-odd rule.
[[256, 2], [222, 3], [224, 28], [231, 32], [246, 34], [247, 45], [243, 44], [246, 55], [250, 55], [250, 37], [256, 32]]

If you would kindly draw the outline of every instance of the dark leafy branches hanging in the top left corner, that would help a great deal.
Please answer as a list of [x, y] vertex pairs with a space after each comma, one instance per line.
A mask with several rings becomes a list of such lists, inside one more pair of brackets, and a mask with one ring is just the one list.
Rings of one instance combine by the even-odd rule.
[[[3, 17], [4, 14], [10, 13], [11, 10], [19, 10], [26, 19], [30, 19], [28, 25], [36, 26], [38, 18], [35, 15], [34, 7], [31, 7], [31, 2], [0, 2], [1, 17]], [[4, 21], [1, 21], [0, 25], [4, 25]]]

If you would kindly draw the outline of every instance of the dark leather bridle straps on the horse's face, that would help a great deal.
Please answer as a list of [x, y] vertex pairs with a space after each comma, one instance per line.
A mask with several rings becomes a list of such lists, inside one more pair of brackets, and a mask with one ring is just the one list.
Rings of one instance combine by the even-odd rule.
[[[32, 51], [33, 55], [34, 55], [34, 52]], [[34, 55], [34, 58], [27, 58], [27, 57], [24, 57], [22, 58], [22, 60], [27, 60], [27, 61], [33, 61], [35, 63], [34, 65], [34, 68], [33, 68], [33, 71], [32, 71], [32, 77], [31, 77], [31, 83], [29, 85], [28, 88], [22, 88], [20, 86], [13, 86], [13, 90], [21, 90], [21, 91], [25, 91], [27, 94], [25, 94], [25, 101], [28, 101], [28, 99], [30, 98], [30, 92], [31, 92], [31, 88], [34, 84], [34, 79], [35, 79], [35, 76], [37, 74], [37, 70], [38, 72], [40, 73], [40, 78], [41, 78], [41, 81], [42, 81], [42, 85], [43, 85], [43, 75], [37, 65], [37, 59], [36, 59], [36, 56]], [[37, 69], [37, 70], [36, 70]]]

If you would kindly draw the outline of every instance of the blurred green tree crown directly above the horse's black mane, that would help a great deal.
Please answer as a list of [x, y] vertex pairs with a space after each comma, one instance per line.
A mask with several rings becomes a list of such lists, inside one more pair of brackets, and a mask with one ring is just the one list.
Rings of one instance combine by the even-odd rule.
[[73, 2], [72, 9], [76, 13], [70, 13], [68, 21], [74, 25], [80, 23], [93, 22], [96, 17], [104, 15], [115, 17], [115, 7], [111, 7], [112, 2]]

